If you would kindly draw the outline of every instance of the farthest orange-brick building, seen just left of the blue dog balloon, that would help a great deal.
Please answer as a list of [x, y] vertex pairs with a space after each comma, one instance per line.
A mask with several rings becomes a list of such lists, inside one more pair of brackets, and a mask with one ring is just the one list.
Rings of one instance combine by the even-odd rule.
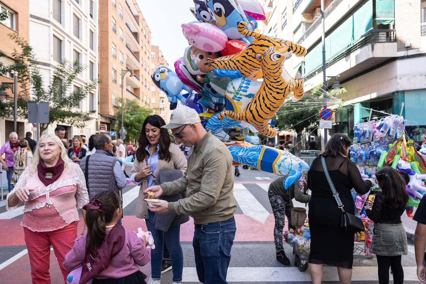
[[[158, 46], [152, 46], [151, 51], [151, 74], [157, 69], [158, 65], [168, 66], [164, 56]], [[155, 108], [155, 113], [168, 123], [170, 118], [170, 103], [167, 100], [166, 94], [157, 88], [154, 84], [151, 86], [152, 98], [151, 107]]]

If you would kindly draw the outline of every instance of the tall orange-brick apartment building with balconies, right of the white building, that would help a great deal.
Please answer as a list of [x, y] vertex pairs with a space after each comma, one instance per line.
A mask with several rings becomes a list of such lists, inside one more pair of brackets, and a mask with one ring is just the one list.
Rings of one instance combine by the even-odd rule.
[[103, 82], [98, 132], [109, 133], [121, 120], [121, 94], [124, 101], [135, 100], [141, 106], [158, 104], [150, 78], [152, 52], [151, 32], [135, 0], [99, 0], [99, 77]]

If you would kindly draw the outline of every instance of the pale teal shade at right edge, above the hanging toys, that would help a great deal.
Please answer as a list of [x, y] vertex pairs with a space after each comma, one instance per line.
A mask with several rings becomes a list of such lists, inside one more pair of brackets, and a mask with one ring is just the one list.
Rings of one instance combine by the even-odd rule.
[[404, 91], [407, 126], [426, 125], [426, 89]]

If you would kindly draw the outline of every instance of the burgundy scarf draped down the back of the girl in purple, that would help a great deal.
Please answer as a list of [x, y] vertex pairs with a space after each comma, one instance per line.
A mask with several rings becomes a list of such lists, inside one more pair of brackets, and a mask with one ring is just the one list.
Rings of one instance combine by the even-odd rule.
[[124, 246], [124, 227], [116, 224], [105, 236], [104, 242], [98, 247], [98, 255], [86, 250], [84, 255], [83, 268], [81, 270], [80, 284], [84, 284], [99, 273], [107, 269], [109, 261]]

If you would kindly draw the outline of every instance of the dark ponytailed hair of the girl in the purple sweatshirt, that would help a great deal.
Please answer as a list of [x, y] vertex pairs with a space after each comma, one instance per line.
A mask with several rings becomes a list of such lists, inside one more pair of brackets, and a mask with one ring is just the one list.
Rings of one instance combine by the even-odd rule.
[[98, 247], [107, 235], [107, 224], [114, 218], [114, 212], [119, 208], [119, 198], [115, 192], [103, 191], [95, 195], [92, 200], [86, 204], [85, 222], [87, 225], [86, 250], [98, 254]]

